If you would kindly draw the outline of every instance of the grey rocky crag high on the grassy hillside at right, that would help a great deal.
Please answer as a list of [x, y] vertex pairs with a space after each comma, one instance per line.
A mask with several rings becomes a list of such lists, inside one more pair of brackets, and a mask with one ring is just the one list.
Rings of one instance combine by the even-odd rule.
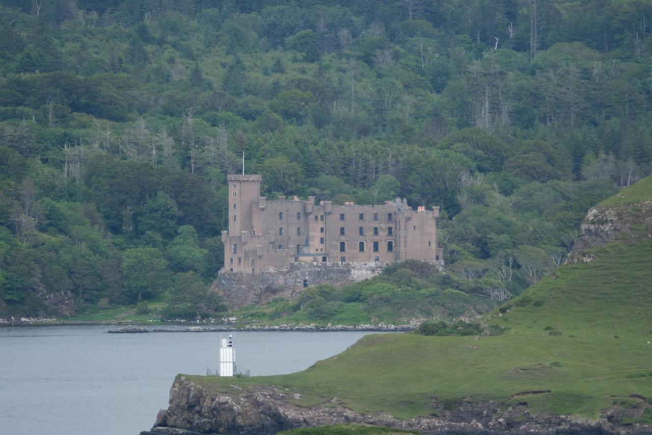
[[[580, 236], [569, 253], [568, 263], [588, 263], [593, 259], [585, 252], [591, 246], [602, 246], [635, 235], [632, 229], [652, 225], [652, 201], [625, 206], [591, 208], [580, 226]], [[645, 234], [652, 236], [652, 234]]]

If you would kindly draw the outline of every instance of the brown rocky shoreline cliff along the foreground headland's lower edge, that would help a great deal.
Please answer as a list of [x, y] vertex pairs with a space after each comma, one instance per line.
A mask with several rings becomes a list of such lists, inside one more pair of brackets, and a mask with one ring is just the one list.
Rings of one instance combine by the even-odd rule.
[[[219, 378], [218, 378], [219, 379]], [[572, 415], [532, 413], [527, 396], [545, 391], [522, 393], [516, 406], [503, 407], [497, 402], [473, 402], [445, 410], [433, 399], [438, 417], [396, 419], [382, 413], [357, 413], [337, 397], [318, 406], [290, 403], [300, 400], [301, 392], [280, 387], [254, 386], [243, 389], [219, 379], [218, 388], [201, 387], [184, 376], [175, 379], [170, 391], [170, 407], [160, 411], [151, 430], [140, 435], [197, 434], [274, 434], [281, 430], [324, 425], [367, 424], [414, 430], [428, 434], [649, 434], [652, 427], [623, 425], [632, 410], [610, 408], [600, 419]], [[224, 391], [229, 391], [225, 393]]]

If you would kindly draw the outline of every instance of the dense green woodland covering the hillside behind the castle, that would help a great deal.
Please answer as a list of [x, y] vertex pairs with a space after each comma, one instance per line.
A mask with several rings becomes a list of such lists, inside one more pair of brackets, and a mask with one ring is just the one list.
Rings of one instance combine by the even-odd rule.
[[223, 310], [243, 151], [271, 198], [441, 206], [452, 273], [394, 297], [518, 294], [651, 172], [652, 0], [0, 5], [0, 314]]

